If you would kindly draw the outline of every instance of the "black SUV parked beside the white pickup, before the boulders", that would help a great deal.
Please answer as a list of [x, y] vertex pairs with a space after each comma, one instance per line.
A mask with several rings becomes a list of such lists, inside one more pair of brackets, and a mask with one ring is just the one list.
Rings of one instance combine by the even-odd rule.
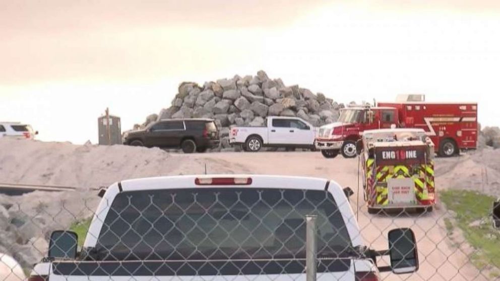
[[213, 119], [163, 119], [123, 135], [124, 145], [181, 148], [184, 153], [205, 152], [219, 143]]

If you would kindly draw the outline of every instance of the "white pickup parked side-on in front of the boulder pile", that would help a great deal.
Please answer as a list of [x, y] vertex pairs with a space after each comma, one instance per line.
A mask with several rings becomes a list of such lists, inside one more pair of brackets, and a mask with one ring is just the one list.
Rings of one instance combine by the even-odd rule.
[[269, 116], [263, 127], [232, 127], [229, 144], [258, 152], [262, 147], [315, 149], [316, 127], [298, 117]]

